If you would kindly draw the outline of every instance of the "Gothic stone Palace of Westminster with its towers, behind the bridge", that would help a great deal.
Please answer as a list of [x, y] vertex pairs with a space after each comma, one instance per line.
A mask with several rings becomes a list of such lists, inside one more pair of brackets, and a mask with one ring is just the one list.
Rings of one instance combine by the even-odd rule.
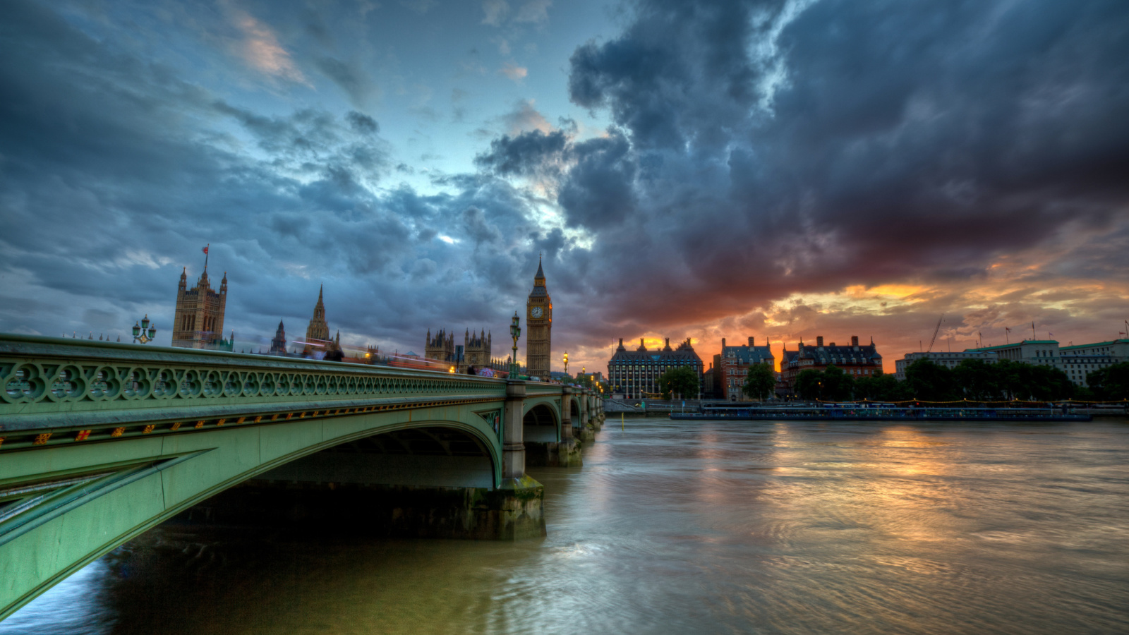
[[[204, 270], [200, 275], [200, 279], [190, 289], [187, 268], [185, 268], [181, 272], [181, 282], [176, 289], [173, 346], [234, 351], [235, 333], [231, 332], [228, 339], [224, 339], [226, 306], [227, 272], [224, 273], [219, 290], [213, 290], [208, 277], [208, 261], [205, 259]], [[537, 273], [533, 279], [533, 290], [526, 302], [526, 362], [531, 376], [545, 379], [550, 376], [552, 314], [552, 299], [545, 287], [545, 275], [539, 261]], [[413, 353], [405, 354], [403, 358], [419, 359], [434, 367], [441, 367], [455, 373], [465, 373], [471, 367], [473, 369], [508, 369], [508, 357], [495, 358], [491, 356], [491, 333], [484, 329], [478, 333], [472, 333], [467, 329], [463, 336], [463, 343], [456, 345], [454, 333], [440, 329], [432, 336], [431, 330], [428, 329], [422, 358]], [[382, 357], [378, 347], [365, 347], [347, 353], [341, 346], [341, 331], [339, 330], [334, 337], [330, 336], [330, 325], [325, 319], [324, 288], [317, 290], [317, 303], [314, 305], [314, 315], [306, 327], [306, 337], [301, 341], [291, 342], [300, 345], [301, 349], [294, 346], [288, 351], [287, 343], [286, 328], [282, 320], [279, 320], [270, 349], [266, 351], [260, 349], [259, 354], [367, 364], [390, 358], [387, 355]], [[349, 356], [349, 353], [352, 356]]]

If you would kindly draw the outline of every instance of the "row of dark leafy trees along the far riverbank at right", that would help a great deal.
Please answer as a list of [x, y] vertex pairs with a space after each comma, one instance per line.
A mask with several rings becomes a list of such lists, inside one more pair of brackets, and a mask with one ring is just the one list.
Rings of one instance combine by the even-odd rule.
[[855, 377], [832, 365], [800, 372], [795, 388], [802, 399], [824, 401], [1118, 401], [1129, 398], [1129, 363], [1091, 371], [1087, 383], [1089, 388], [1076, 385], [1059, 368], [1008, 359], [965, 359], [954, 368], [918, 359], [907, 366], [901, 382], [882, 373]]

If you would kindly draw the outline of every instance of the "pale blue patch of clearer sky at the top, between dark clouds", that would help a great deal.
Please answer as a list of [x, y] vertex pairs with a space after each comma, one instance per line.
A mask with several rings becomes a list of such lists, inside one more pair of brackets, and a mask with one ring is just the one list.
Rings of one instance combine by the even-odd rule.
[[[576, 121], [581, 137], [609, 123], [568, 98], [569, 56], [618, 29], [606, 2], [81, 2], [62, 14], [90, 37], [256, 115], [373, 116], [391, 163], [402, 166], [387, 188], [432, 192], [443, 188], [434, 176], [473, 171], [490, 139], [523, 123], [513, 116], [523, 102], [550, 125]], [[334, 66], [353, 73], [352, 90], [334, 80]], [[524, 128], [535, 123], [526, 118]], [[226, 150], [269, 158], [229, 116], [180, 124]]]

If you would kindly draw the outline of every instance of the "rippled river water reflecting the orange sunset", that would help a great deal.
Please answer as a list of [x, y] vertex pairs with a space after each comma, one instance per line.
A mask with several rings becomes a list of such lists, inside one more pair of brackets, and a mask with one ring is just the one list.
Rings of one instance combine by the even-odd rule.
[[0, 634], [1129, 633], [1129, 421], [607, 421], [549, 538], [159, 527]]

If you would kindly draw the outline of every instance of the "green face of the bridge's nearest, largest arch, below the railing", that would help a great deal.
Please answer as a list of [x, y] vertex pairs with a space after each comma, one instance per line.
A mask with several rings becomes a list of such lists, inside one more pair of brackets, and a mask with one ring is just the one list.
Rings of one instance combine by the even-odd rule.
[[[500, 441], [493, 428], [497, 424], [478, 414], [483, 407], [491, 406], [295, 418], [277, 425], [210, 426], [182, 434], [125, 438], [120, 443], [55, 447], [52, 466], [56, 470], [42, 478], [58, 479], [64, 473], [76, 475], [75, 478], [67, 486], [19, 501], [26, 508], [17, 516], [11, 515], [10, 507], [0, 508], [0, 514], [9, 512], [2, 514], [8, 517], [0, 517], [0, 617], [123, 542], [199, 503], [273, 470], [285, 473], [286, 466], [291, 463], [292, 469], [305, 467], [307, 473], [316, 472], [317, 464], [326, 462], [324, 455], [318, 458], [321, 452], [364, 443], [367, 438], [427, 430], [432, 437], [429, 443], [441, 445], [437, 433], [447, 433], [452, 437], [448, 442], [464, 446], [470, 443], [480, 455], [476, 461], [447, 466], [448, 476], [461, 478], [436, 485], [497, 487], [501, 481]], [[500, 401], [493, 403], [493, 408], [500, 410]], [[5, 467], [27, 473], [42, 471], [41, 466], [21, 464], [34, 462], [36, 454], [6, 454]], [[401, 473], [419, 473], [420, 470], [412, 472], [411, 466], [403, 463]], [[16, 554], [36, 554], [36, 557], [20, 558]]]

